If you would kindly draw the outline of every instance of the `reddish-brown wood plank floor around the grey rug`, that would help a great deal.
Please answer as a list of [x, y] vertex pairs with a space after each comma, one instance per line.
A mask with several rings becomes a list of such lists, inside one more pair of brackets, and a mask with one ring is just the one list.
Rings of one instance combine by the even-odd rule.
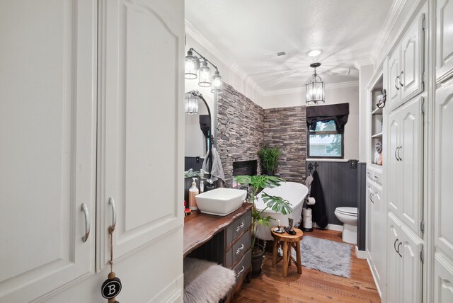
[[[340, 231], [314, 229], [306, 235], [341, 241]], [[251, 283], [244, 282], [241, 292], [231, 302], [381, 302], [367, 261], [355, 256], [355, 246], [352, 246], [351, 278], [304, 267], [299, 275], [294, 265], [288, 268], [287, 278], [283, 278], [282, 263], [277, 268], [271, 264], [272, 253], [266, 252], [263, 273]]]

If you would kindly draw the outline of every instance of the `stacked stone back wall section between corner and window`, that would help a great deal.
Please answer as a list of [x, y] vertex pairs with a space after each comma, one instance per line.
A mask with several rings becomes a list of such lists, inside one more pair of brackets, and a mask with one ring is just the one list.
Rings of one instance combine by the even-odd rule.
[[264, 143], [282, 151], [276, 176], [287, 181], [305, 181], [306, 107], [264, 110]]

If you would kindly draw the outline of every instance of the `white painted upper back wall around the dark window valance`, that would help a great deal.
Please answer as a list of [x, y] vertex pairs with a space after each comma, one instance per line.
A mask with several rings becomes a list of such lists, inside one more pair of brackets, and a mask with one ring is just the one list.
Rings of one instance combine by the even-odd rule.
[[[345, 126], [345, 159], [359, 159], [359, 86], [326, 86], [326, 103], [349, 103], [349, 118]], [[305, 89], [263, 97], [263, 108], [284, 108], [306, 105]]]

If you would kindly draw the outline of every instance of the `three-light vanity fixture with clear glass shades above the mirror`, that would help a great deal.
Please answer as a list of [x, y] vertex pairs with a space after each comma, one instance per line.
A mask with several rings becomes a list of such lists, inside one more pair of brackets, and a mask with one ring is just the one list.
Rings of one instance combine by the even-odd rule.
[[[196, 53], [199, 57], [193, 55]], [[201, 59], [201, 60], [200, 60]], [[200, 66], [201, 62], [201, 66]], [[211, 64], [214, 67], [215, 72], [211, 78], [211, 69], [207, 64]], [[198, 74], [197, 74], [198, 72]], [[210, 62], [210, 60], [203, 57], [200, 52], [197, 52], [192, 47], [187, 52], [185, 56], [185, 79], [193, 80], [199, 78], [198, 85], [202, 87], [211, 87], [211, 93], [222, 93], [223, 91], [223, 81], [222, 76], [220, 76], [219, 69]]]

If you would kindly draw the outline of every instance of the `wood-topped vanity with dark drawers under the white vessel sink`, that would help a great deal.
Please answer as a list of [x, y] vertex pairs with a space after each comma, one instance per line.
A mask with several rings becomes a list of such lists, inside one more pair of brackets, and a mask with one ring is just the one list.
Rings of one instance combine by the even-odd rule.
[[230, 215], [193, 212], [184, 220], [184, 256], [216, 262], [234, 270], [236, 285], [227, 300], [241, 289], [251, 272], [251, 208], [244, 202]]

